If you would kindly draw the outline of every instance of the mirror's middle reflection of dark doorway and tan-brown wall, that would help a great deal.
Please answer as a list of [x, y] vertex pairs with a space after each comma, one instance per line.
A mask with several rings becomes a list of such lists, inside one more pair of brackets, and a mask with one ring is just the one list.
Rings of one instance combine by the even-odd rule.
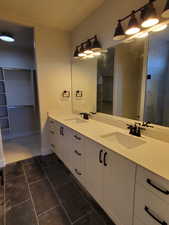
[[122, 43], [98, 60], [97, 111], [140, 119], [145, 41]]

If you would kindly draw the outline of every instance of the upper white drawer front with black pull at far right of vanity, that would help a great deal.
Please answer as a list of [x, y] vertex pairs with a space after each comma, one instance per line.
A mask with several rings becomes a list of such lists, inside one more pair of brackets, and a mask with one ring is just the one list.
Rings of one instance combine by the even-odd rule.
[[138, 167], [136, 183], [141, 184], [169, 204], [169, 181]]

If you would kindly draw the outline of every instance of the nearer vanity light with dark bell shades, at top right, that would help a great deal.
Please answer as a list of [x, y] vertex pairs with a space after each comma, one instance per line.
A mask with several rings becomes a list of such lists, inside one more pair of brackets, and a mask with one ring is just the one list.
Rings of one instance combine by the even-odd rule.
[[[133, 38], [143, 38], [148, 36], [149, 32], [157, 32], [166, 29], [168, 24], [167, 22], [166, 24], [162, 22], [158, 25], [160, 22], [160, 17], [157, 16], [156, 9], [153, 5], [155, 1], [157, 0], [149, 0], [149, 2], [144, 6], [133, 10], [129, 15], [118, 20], [118, 25], [115, 29], [113, 40], [123, 40], [126, 37], [125, 34], [127, 36], [131, 36], [131, 38], [132, 36]], [[137, 13], [140, 13], [140, 23], [136, 18]], [[161, 14], [161, 17], [169, 18], [169, 0], [166, 2], [166, 6]], [[124, 31], [122, 22], [127, 19], [129, 19], [128, 28]]]

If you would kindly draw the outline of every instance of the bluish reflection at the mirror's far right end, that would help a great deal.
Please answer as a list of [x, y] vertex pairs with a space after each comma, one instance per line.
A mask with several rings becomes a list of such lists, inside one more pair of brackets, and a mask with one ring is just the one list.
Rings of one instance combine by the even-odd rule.
[[169, 28], [149, 37], [144, 120], [169, 126]]

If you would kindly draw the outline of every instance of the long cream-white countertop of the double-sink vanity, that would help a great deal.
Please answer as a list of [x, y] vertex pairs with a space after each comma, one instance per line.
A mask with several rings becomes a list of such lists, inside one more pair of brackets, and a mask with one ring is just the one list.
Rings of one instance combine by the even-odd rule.
[[[87, 120], [85, 123], [68, 121], [68, 119], [80, 118], [80, 116], [76, 114], [61, 115], [55, 112], [49, 112], [48, 115], [65, 126], [70, 127], [80, 134], [103, 145], [109, 150], [116, 152], [134, 163], [150, 170], [151, 172], [169, 180], [169, 143], [147, 136], [132, 136], [136, 139], [142, 139], [146, 143], [140, 145], [139, 147], [128, 149], [117, 142], [110, 142], [101, 137], [102, 135], [113, 132], [129, 135], [129, 130], [127, 129], [125, 130], [92, 119]], [[129, 137], [130, 136], [131, 135], [129, 135]]]

